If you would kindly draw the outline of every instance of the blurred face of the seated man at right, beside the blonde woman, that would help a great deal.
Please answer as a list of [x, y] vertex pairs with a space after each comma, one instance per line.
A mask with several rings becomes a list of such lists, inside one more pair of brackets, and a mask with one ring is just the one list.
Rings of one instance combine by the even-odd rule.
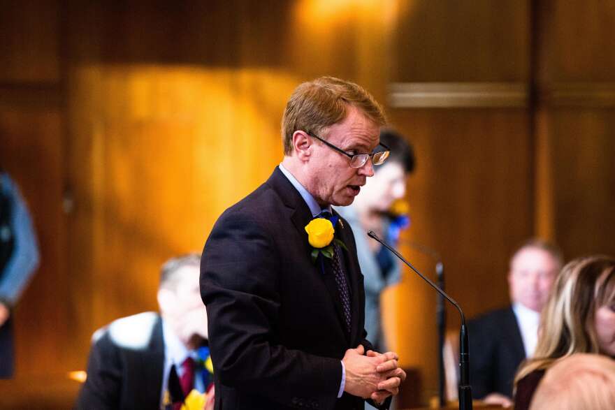
[[558, 274], [558, 263], [542, 249], [527, 247], [514, 256], [508, 284], [512, 302], [540, 312]]

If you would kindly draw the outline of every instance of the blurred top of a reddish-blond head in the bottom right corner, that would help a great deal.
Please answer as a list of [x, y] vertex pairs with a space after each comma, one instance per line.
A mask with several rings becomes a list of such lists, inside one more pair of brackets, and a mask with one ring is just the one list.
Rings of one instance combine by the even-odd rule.
[[530, 410], [612, 410], [615, 361], [576, 353], [558, 360], [538, 385]]

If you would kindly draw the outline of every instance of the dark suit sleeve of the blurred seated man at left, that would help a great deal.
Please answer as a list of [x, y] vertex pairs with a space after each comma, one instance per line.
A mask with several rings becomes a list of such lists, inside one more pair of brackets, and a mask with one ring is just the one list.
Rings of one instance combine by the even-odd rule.
[[87, 379], [81, 386], [75, 409], [119, 409], [121, 383], [119, 352], [108, 332], [105, 332], [92, 344], [87, 363]]

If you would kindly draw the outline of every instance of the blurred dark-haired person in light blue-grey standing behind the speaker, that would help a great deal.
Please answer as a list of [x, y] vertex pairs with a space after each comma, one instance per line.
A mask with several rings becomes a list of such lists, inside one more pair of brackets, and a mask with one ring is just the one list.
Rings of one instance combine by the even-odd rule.
[[391, 129], [380, 132], [380, 143], [391, 149], [389, 158], [382, 166], [374, 167], [375, 175], [368, 178], [352, 205], [335, 210], [350, 223], [356, 240], [365, 281], [367, 339], [377, 351], [388, 351], [381, 324], [380, 294], [386, 286], [398, 283], [400, 267], [391, 252], [370, 239], [367, 232], [373, 230], [394, 246], [400, 228], [408, 225], [407, 205], [391, 207], [405, 204], [396, 201], [405, 198], [406, 180], [414, 170], [414, 151], [403, 136]]

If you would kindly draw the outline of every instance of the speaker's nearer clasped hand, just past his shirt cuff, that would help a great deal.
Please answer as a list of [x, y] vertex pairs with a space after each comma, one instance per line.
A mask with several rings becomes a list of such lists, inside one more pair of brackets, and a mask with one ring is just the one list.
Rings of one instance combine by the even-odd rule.
[[344, 391], [363, 397], [371, 397], [378, 390], [380, 382], [385, 381], [384, 374], [377, 367], [386, 362], [385, 356], [363, 356], [365, 348], [359, 344], [356, 349], [348, 349], [342, 362], [346, 368], [346, 384]]

